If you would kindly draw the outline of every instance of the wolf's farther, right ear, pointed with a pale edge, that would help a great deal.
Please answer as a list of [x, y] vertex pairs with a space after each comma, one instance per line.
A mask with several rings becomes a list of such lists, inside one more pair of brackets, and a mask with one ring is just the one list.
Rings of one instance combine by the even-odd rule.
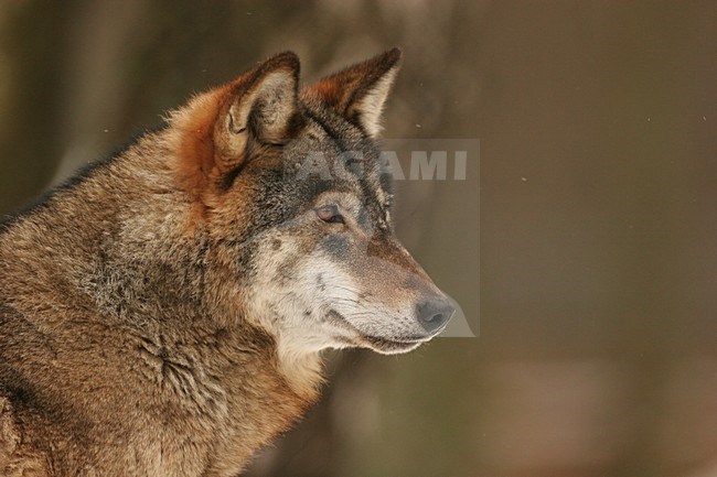
[[381, 132], [388, 93], [400, 67], [400, 50], [393, 48], [309, 86], [303, 94], [334, 108], [370, 137]]

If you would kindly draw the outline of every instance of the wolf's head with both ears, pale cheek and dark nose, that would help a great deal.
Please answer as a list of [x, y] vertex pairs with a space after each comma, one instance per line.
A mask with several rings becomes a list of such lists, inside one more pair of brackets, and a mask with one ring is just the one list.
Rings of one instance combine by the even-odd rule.
[[408, 351], [453, 313], [392, 228], [376, 135], [399, 58], [300, 89], [282, 53], [172, 115], [175, 173], [221, 269], [214, 300], [285, 353]]

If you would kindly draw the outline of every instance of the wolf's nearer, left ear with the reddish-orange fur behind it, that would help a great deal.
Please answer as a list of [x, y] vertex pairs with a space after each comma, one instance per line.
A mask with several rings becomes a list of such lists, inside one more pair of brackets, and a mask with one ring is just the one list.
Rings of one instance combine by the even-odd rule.
[[299, 58], [280, 53], [171, 115], [175, 169], [192, 196], [240, 167], [249, 140], [274, 143], [295, 132], [298, 83]]

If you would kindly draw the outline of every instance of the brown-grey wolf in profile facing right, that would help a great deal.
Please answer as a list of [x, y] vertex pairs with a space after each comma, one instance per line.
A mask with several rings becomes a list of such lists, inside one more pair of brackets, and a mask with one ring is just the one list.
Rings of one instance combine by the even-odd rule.
[[300, 87], [272, 56], [0, 226], [1, 475], [236, 476], [317, 400], [322, 350], [446, 327], [392, 227], [399, 59]]

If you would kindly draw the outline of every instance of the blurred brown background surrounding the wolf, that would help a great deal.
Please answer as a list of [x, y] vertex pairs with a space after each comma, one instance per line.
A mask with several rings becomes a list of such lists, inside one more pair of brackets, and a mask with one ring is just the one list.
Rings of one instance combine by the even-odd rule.
[[271, 53], [394, 45], [386, 135], [481, 141], [397, 210], [480, 336], [334, 355], [249, 475], [717, 476], [714, 1], [3, 0], [0, 214]]

